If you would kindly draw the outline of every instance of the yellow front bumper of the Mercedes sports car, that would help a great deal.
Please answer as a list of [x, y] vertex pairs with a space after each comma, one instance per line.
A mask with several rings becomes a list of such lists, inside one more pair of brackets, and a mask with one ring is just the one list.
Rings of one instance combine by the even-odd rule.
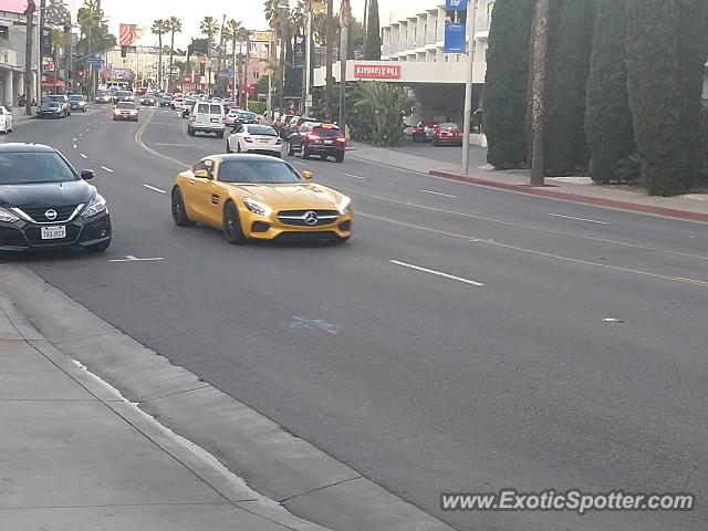
[[249, 210], [240, 211], [243, 236], [253, 240], [327, 241], [345, 240], [352, 235], [353, 214], [339, 215], [332, 222], [308, 227], [285, 225], [275, 212], [259, 216]]

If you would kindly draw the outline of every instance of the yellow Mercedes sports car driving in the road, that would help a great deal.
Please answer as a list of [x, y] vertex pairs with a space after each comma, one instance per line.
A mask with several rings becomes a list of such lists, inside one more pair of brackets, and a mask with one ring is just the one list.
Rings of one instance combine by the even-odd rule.
[[210, 155], [175, 178], [173, 219], [219, 228], [229, 243], [254, 240], [346, 241], [350, 198], [309, 181], [287, 162], [264, 155]]

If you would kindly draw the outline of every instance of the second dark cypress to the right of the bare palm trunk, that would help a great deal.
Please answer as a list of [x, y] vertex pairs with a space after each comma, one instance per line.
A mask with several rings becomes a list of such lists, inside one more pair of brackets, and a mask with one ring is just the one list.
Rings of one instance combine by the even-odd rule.
[[617, 164], [636, 150], [627, 96], [626, 9], [626, 0], [597, 0], [585, 105], [590, 175], [597, 184], [616, 180]]

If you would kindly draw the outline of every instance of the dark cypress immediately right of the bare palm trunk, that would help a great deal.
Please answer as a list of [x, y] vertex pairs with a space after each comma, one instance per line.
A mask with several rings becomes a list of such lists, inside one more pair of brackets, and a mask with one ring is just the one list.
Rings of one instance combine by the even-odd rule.
[[545, 175], [587, 168], [585, 90], [595, 0], [554, 0], [550, 7], [545, 83]]

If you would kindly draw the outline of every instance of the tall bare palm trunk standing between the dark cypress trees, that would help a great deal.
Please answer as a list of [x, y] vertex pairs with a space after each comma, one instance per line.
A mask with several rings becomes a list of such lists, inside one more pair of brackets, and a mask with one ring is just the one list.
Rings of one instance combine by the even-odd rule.
[[545, 184], [544, 128], [545, 128], [545, 64], [549, 35], [549, 0], [535, 0], [533, 23], [533, 83], [531, 128], [533, 131], [533, 148], [531, 158], [531, 186]]

